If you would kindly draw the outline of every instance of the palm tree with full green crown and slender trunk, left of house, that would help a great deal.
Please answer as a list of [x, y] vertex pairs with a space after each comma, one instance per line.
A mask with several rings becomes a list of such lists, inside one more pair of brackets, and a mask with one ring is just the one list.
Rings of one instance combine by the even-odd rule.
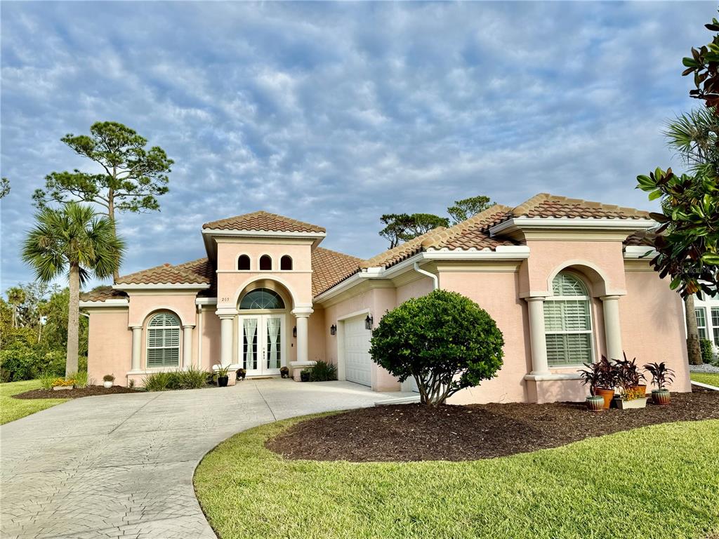
[[78, 371], [80, 286], [92, 275], [110, 277], [119, 267], [125, 244], [116, 236], [109, 218], [96, 216], [90, 206], [68, 203], [59, 210], [44, 208], [35, 218], [37, 224], [25, 238], [22, 259], [42, 282], [63, 274], [69, 277], [65, 360], [65, 377], [69, 377]]

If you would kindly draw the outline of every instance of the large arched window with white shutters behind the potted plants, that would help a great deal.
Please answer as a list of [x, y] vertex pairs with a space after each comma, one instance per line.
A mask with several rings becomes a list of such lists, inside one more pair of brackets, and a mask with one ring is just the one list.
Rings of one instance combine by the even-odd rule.
[[549, 367], [591, 363], [592, 313], [587, 287], [571, 273], [552, 282], [553, 295], [544, 301], [544, 331]]

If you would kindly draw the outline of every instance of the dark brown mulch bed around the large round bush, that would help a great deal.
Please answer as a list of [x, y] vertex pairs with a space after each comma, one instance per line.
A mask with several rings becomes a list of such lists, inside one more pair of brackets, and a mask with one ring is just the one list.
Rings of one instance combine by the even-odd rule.
[[467, 461], [673, 421], [719, 419], [719, 392], [675, 393], [672, 404], [592, 413], [584, 403], [392, 405], [306, 420], [267, 441], [288, 459]]

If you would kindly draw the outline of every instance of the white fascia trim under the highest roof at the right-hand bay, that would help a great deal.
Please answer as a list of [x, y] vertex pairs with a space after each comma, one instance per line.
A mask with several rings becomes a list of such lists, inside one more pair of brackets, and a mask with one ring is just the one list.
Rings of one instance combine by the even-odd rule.
[[646, 230], [656, 226], [652, 219], [618, 219], [597, 217], [515, 217], [490, 228], [490, 236], [516, 230]]

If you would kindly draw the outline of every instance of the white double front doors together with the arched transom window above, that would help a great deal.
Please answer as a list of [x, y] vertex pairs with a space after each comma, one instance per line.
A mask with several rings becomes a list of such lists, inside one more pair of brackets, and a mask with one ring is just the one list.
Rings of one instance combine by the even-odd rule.
[[288, 301], [277, 290], [256, 287], [237, 305], [237, 357], [247, 376], [280, 374], [287, 364]]

